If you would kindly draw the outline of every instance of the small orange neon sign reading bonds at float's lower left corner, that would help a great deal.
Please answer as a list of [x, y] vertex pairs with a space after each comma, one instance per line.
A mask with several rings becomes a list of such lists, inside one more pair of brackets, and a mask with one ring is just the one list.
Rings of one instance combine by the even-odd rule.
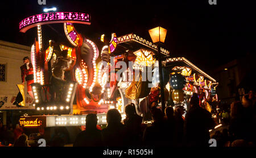
[[46, 117], [22, 117], [20, 127], [46, 127]]

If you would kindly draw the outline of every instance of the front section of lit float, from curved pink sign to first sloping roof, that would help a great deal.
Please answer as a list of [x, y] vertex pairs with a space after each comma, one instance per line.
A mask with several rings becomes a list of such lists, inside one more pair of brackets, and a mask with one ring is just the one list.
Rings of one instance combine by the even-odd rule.
[[[105, 46], [99, 51], [97, 45], [77, 32], [73, 25], [89, 25], [90, 21], [90, 14], [55, 12], [33, 15], [19, 23], [20, 32], [23, 33], [37, 28], [38, 35], [31, 47], [34, 68], [32, 92], [33, 106], [42, 114], [20, 118], [22, 127], [39, 127], [40, 124], [44, 127], [81, 126], [85, 124], [86, 114], [89, 113], [97, 113], [98, 124], [106, 124], [106, 112], [113, 108], [118, 109], [124, 119], [124, 106], [131, 102], [125, 97], [125, 91], [134, 79], [129, 78], [128, 73], [133, 74], [134, 70], [131, 69], [141, 72], [144, 66], [154, 64], [153, 56], [158, 48], [138, 35], [118, 37], [113, 33], [110, 37], [101, 36]], [[65, 36], [72, 47], [48, 39], [48, 48], [43, 49], [41, 26], [52, 23], [64, 24]], [[169, 53], [163, 48], [161, 50], [165, 54]], [[63, 55], [64, 52], [67, 57]], [[114, 65], [118, 61], [125, 61], [127, 65], [131, 61], [134, 64], [131, 69], [126, 68], [122, 80], [117, 80], [118, 69], [114, 68], [114, 76], [110, 73], [112, 60]], [[63, 68], [63, 65], [58, 66], [60, 61], [66, 67], [62, 72], [55, 73], [55, 70]], [[100, 64], [101, 61], [105, 61], [105, 64]], [[60, 73], [64, 76], [58, 76]], [[114, 80], [111, 80], [112, 77]], [[147, 91], [149, 93], [150, 89]], [[145, 97], [148, 93], [138, 97]]]

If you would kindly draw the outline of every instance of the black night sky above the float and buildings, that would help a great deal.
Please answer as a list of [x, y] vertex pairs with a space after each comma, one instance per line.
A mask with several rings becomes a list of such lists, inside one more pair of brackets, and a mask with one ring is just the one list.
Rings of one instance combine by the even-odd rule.
[[[101, 34], [115, 32], [117, 36], [135, 34], [150, 39], [148, 30], [156, 26], [166, 28], [166, 48], [171, 57], [184, 56], [199, 68], [210, 70], [238, 59], [246, 53], [255, 53], [256, 9], [253, 1], [208, 0], [175, 1], [82, 1], [46, 0], [1, 1], [0, 40], [31, 45], [36, 29], [20, 33], [18, 24], [28, 16], [43, 13], [44, 7], [57, 11], [80, 11], [92, 16], [90, 26], [75, 24], [77, 30], [97, 43]], [[52, 29], [52, 28], [54, 29]], [[42, 26], [43, 40], [68, 43], [63, 24]], [[98, 47], [101, 49], [101, 45]]]

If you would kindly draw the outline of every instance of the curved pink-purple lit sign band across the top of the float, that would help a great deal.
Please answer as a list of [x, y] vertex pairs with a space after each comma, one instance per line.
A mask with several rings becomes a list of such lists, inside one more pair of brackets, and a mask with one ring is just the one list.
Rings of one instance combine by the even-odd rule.
[[49, 23], [82, 23], [90, 24], [90, 15], [75, 12], [54, 12], [32, 15], [19, 23], [20, 32], [26, 32], [32, 27]]

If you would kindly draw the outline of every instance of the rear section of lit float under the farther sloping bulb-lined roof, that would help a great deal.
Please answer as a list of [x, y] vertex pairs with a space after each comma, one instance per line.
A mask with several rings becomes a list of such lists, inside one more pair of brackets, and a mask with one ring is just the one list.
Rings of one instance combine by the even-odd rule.
[[203, 72], [185, 57], [168, 58], [163, 61], [168, 69], [170, 80], [166, 88], [170, 92], [170, 100], [175, 106], [185, 106], [188, 110], [189, 98], [193, 93], [199, 95], [200, 106], [209, 112], [212, 111], [210, 102], [217, 102], [216, 87], [218, 82], [209, 74]]

